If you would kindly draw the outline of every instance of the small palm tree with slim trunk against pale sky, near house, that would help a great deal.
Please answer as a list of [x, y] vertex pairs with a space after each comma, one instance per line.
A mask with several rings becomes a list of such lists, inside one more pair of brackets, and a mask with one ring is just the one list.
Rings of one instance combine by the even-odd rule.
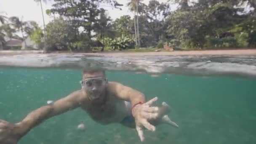
[[21, 35], [22, 35], [22, 38], [24, 40], [24, 43], [25, 43], [25, 47], [27, 46], [27, 43], [26, 43], [26, 40], [25, 40], [25, 37], [24, 37], [24, 29], [27, 29], [27, 22], [26, 21], [21, 21], [18, 17], [16, 16], [12, 16], [9, 18], [10, 21], [11, 21], [11, 25], [17, 29], [17, 30], [20, 30], [21, 31]]

